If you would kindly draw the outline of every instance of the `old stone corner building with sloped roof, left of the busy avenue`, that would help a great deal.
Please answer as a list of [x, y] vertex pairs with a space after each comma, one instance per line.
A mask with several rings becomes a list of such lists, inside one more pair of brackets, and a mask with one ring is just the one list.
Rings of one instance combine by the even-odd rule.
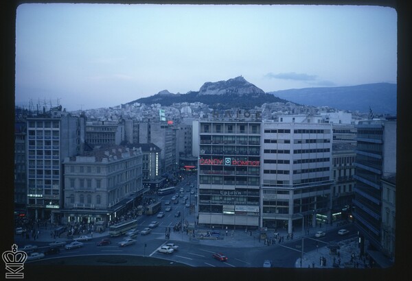
[[66, 222], [111, 221], [143, 193], [141, 149], [111, 146], [65, 158]]

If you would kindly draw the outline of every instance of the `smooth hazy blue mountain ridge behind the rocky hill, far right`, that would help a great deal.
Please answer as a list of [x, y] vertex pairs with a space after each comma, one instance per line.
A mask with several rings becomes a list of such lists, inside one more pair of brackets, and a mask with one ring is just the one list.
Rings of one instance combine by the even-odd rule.
[[308, 106], [329, 106], [341, 110], [396, 115], [396, 84], [277, 90], [270, 94]]

